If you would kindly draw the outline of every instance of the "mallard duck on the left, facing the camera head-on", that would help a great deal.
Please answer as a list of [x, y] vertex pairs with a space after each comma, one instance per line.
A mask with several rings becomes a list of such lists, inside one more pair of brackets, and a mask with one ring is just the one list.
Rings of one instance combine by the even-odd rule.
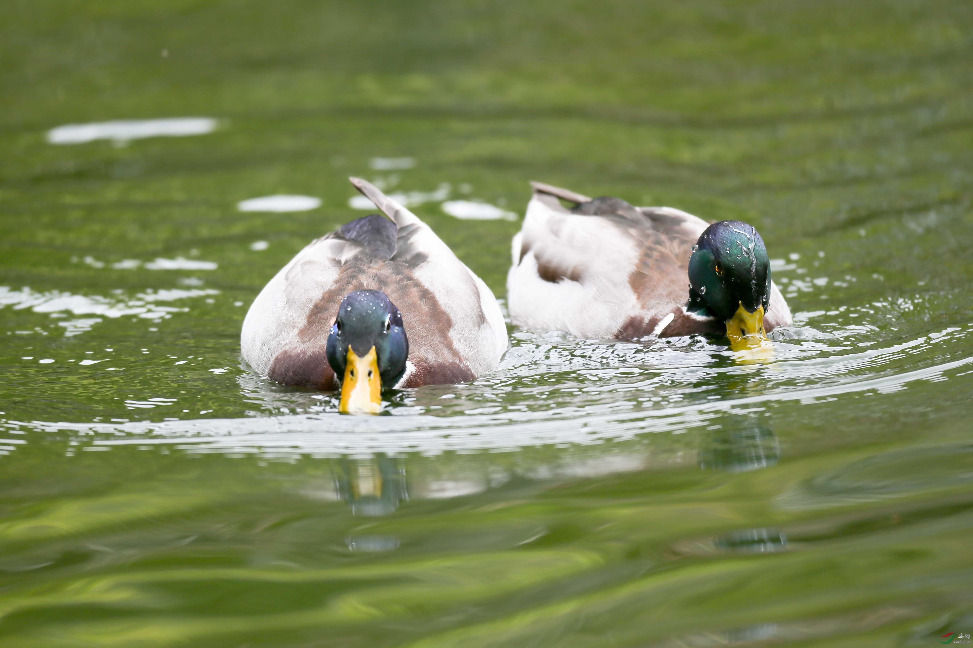
[[250, 306], [243, 358], [278, 383], [341, 390], [342, 412], [378, 412], [383, 388], [495, 369], [507, 328], [493, 293], [412, 212], [350, 181], [385, 216], [345, 223], [291, 259]]

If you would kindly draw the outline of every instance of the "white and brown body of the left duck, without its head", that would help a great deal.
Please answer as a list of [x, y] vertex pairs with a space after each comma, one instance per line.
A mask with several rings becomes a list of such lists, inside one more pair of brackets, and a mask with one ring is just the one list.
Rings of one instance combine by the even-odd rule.
[[463, 382], [494, 369], [507, 332], [492, 292], [403, 212], [398, 222], [372, 215], [346, 223], [284, 266], [247, 313], [243, 358], [277, 382], [335, 389], [326, 346], [342, 297], [381, 290], [409, 338], [399, 387]]

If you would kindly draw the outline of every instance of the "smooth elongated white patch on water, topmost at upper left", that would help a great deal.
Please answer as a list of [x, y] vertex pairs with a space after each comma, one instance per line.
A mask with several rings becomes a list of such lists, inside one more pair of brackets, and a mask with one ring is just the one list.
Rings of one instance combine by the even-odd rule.
[[51, 144], [85, 144], [95, 140], [111, 140], [127, 144], [147, 137], [188, 137], [205, 135], [216, 130], [217, 120], [208, 117], [172, 119], [117, 119], [94, 123], [69, 123], [48, 131]]

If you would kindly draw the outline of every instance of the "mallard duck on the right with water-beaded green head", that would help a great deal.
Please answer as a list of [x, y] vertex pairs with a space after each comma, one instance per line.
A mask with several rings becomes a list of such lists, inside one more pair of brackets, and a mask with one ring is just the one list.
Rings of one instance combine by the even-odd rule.
[[507, 275], [514, 324], [619, 340], [727, 335], [737, 349], [792, 323], [752, 225], [531, 186]]

